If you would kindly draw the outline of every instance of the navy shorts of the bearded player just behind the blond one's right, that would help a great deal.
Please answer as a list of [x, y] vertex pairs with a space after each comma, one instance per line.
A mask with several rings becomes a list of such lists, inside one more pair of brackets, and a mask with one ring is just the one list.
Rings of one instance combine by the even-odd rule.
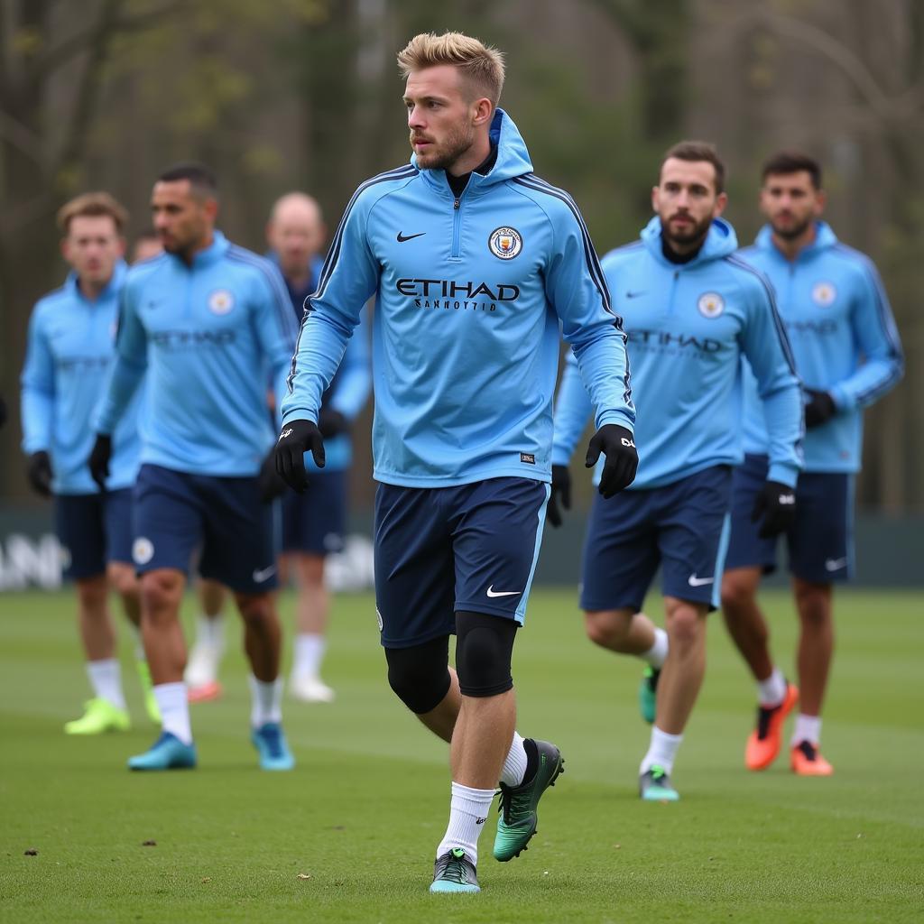
[[661, 488], [624, 491], [590, 509], [580, 607], [638, 612], [661, 565], [665, 596], [719, 605], [732, 470], [713, 466]]

